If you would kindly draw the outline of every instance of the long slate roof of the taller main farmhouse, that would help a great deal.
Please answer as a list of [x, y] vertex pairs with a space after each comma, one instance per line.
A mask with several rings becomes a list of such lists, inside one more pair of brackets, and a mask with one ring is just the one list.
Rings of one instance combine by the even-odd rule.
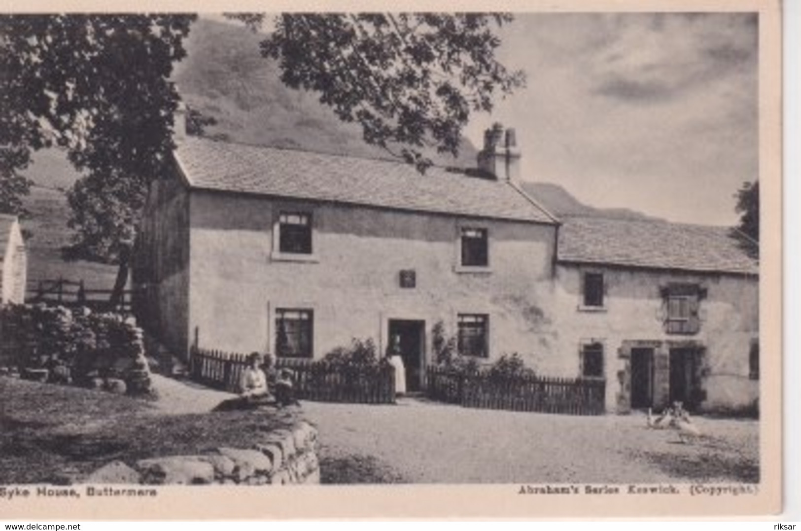
[[176, 159], [190, 187], [298, 199], [555, 223], [509, 183], [431, 167], [188, 138]]

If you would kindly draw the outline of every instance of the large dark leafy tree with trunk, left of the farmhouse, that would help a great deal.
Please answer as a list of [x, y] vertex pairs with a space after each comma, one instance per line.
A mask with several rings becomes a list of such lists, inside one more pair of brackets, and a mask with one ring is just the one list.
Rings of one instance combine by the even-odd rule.
[[47, 14], [0, 17], [0, 210], [22, 211], [32, 151], [62, 147], [85, 176], [69, 201], [68, 255], [127, 261], [147, 182], [170, 163], [169, 80], [195, 15]]

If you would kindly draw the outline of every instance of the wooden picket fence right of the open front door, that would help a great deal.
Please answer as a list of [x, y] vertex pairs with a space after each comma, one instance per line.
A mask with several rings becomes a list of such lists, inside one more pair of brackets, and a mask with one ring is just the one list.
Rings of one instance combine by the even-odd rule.
[[543, 376], [489, 376], [429, 366], [427, 394], [432, 400], [465, 408], [602, 415], [606, 380]]

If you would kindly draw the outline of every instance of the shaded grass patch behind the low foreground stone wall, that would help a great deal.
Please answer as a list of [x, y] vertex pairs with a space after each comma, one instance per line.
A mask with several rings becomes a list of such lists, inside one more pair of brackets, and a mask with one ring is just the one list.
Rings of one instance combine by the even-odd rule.
[[0, 484], [49, 483], [113, 460], [250, 448], [288, 428], [291, 410], [159, 416], [152, 404], [107, 392], [0, 377]]

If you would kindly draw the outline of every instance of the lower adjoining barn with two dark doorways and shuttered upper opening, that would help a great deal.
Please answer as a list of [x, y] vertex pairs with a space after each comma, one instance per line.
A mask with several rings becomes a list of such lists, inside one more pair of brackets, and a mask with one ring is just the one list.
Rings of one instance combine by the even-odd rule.
[[583, 376], [606, 378], [607, 407], [756, 407], [755, 242], [728, 227], [655, 219], [562, 221], [560, 344]]

